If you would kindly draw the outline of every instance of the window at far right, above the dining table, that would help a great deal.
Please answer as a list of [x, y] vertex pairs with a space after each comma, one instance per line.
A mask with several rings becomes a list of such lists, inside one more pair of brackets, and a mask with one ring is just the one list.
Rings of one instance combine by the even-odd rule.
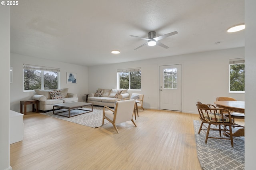
[[229, 61], [229, 92], [244, 93], [244, 58]]

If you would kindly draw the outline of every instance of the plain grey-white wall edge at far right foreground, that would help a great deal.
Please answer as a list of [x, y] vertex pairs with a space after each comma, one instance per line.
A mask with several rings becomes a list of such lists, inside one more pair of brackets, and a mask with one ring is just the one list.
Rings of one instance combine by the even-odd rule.
[[256, 1], [245, 1], [245, 169], [255, 169]]

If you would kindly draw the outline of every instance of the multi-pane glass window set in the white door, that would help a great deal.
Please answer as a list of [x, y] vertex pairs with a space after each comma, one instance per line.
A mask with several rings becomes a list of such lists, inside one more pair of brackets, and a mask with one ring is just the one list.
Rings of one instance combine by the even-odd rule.
[[177, 89], [177, 69], [164, 69], [164, 89]]

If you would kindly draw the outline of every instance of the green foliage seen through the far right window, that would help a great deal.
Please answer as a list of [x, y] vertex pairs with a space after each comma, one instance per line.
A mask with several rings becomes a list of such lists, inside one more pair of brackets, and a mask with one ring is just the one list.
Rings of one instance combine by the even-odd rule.
[[230, 65], [230, 91], [244, 91], [244, 64]]

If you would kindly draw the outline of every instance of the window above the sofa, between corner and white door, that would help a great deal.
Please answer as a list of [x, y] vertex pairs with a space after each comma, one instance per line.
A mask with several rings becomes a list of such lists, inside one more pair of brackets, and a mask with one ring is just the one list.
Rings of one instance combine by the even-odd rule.
[[140, 68], [117, 70], [118, 89], [141, 89]]

